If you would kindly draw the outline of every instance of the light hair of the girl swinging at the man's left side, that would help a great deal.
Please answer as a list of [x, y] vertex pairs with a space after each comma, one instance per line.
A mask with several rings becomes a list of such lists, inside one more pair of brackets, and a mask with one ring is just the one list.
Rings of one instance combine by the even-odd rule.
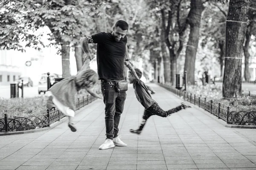
[[96, 84], [98, 81], [98, 74], [92, 69], [81, 70], [76, 74], [76, 85], [79, 88], [90, 88], [90, 83]]

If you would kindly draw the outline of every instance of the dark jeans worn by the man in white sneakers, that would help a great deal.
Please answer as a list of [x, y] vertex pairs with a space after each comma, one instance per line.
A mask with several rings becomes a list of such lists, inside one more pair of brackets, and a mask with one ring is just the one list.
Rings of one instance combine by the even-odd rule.
[[101, 82], [101, 90], [105, 103], [106, 136], [113, 140], [118, 136], [118, 125], [124, 110], [126, 92], [116, 92], [114, 85], [105, 82]]

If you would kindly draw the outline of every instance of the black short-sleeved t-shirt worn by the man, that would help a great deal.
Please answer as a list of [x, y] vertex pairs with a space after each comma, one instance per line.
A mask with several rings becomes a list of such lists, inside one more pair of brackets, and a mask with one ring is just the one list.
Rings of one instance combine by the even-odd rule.
[[115, 41], [111, 33], [101, 32], [91, 36], [97, 43], [97, 65], [99, 79], [124, 79], [124, 60], [127, 37]]

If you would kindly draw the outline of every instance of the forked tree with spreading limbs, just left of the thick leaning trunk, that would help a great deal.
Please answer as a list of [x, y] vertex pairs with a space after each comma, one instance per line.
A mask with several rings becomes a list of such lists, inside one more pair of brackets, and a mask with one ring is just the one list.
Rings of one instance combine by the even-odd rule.
[[[177, 73], [177, 58], [183, 48], [184, 32], [186, 31], [188, 4], [186, 1], [182, 2], [181, 0], [148, 0], [147, 2], [151, 11], [158, 18], [164, 78], [166, 82], [174, 84], [175, 73]], [[175, 40], [176, 37], [178, 40]], [[177, 42], [179, 42], [179, 45], [177, 45]]]

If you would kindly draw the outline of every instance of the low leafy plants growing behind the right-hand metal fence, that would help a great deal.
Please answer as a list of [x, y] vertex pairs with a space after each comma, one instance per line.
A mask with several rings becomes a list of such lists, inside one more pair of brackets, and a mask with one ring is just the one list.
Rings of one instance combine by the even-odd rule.
[[224, 108], [230, 107], [230, 111], [256, 111], [256, 99], [250, 96], [243, 96], [241, 99], [222, 99], [221, 85], [188, 85], [187, 91], [197, 97], [205, 98], [207, 101], [212, 100], [214, 104], [221, 103]]

